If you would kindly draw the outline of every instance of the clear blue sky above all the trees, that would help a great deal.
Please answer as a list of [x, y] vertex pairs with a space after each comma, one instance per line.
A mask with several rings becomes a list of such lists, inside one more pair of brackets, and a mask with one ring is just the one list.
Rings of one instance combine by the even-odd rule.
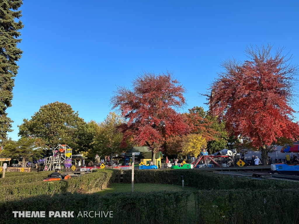
[[198, 93], [222, 60], [244, 60], [246, 45], [284, 45], [299, 64], [299, 1], [25, 0], [21, 9], [24, 53], [7, 109], [15, 140], [22, 119], [50, 102], [103, 121], [112, 91], [142, 71], [173, 72], [186, 111], [207, 109]]

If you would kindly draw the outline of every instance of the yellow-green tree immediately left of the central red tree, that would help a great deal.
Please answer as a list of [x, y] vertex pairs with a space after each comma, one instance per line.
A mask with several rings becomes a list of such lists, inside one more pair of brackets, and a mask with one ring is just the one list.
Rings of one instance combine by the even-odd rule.
[[[97, 151], [100, 152], [102, 156], [114, 154], [121, 154], [124, 149], [121, 147], [123, 133], [118, 128], [124, 123], [123, 119], [115, 112], [110, 112], [106, 119], [101, 122], [100, 133], [96, 138]], [[129, 147], [129, 146], [127, 146]]]

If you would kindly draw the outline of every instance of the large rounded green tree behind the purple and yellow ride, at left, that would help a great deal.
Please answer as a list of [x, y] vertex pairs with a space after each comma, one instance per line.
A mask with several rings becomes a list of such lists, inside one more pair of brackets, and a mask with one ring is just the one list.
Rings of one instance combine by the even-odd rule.
[[49, 147], [47, 156], [58, 144], [72, 142], [74, 133], [80, 126], [86, 125], [78, 112], [61, 102], [41, 106], [30, 120], [24, 119], [23, 122], [18, 126], [19, 136], [43, 139]]

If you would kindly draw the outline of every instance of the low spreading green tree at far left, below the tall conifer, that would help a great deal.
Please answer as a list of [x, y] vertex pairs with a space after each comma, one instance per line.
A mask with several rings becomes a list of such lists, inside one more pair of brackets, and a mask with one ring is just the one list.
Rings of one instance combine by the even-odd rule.
[[22, 137], [18, 141], [7, 141], [2, 153], [7, 157], [18, 159], [19, 164], [25, 167], [27, 162], [42, 158], [43, 149], [41, 139]]

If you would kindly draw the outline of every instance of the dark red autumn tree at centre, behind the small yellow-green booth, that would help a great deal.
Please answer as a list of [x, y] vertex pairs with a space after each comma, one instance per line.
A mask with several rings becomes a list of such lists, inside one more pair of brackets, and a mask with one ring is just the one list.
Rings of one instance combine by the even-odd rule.
[[132, 81], [132, 90], [118, 87], [111, 102], [127, 121], [123, 142], [133, 137], [135, 144], [147, 145], [155, 163], [156, 152], [169, 137], [188, 131], [185, 116], [175, 110], [185, 104], [184, 92], [169, 72], [144, 72]]

